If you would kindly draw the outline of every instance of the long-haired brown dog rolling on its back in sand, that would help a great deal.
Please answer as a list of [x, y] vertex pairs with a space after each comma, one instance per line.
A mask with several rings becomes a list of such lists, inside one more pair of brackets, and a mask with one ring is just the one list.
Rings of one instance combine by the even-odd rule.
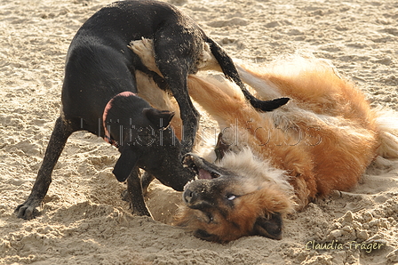
[[186, 185], [176, 224], [196, 237], [280, 239], [284, 213], [333, 189], [352, 189], [378, 156], [398, 157], [398, 116], [370, 108], [325, 60], [297, 56], [274, 67], [238, 69], [262, 100], [292, 100], [260, 113], [233, 84], [189, 76], [190, 96], [223, 132], [215, 164], [194, 154], [184, 159], [199, 180]]

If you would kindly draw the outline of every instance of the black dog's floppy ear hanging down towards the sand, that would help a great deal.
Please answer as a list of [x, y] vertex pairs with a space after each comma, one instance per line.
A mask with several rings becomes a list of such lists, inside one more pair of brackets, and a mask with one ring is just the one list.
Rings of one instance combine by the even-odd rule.
[[112, 172], [117, 181], [123, 182], [127, 180], [138, 160], [139, 154], [134, 152], [130, 146], [125, 146]]

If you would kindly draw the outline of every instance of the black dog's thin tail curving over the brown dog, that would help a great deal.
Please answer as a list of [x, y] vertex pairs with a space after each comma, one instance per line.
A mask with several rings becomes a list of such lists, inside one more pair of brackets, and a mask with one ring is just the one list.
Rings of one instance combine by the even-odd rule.
[[219, 67], [222, 69], [224, 75], [227, 76], [228, 79], [235, 82], [235, 84], [239, 85], [242, 89], [244, 97], [251, 102], [251, 106], [261, 111], [272, 111], [275, 108], [279, 108], [286, 104], [290, 99], [289, 98], [279, 98], [275, 100], [259, 100], [256, 99], [243, 84], [241, 77], [239, 77], [238, 71], [235, 68], [234, 61], [227, 55], [227, 52], [213, 41], [210, 37], [206, 40], [207, 43], [210, 44], [211, 53], [214, 55], [216, 60], [219, 62]]

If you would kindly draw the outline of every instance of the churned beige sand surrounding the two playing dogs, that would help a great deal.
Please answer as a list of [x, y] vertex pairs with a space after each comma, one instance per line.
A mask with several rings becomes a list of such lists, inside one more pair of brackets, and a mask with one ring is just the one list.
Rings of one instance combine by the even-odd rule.
[[[372, 106], [398, 111], [396, 1], [170, 1], [238, 60], [267, 65], [281, 54], [313, 52], [354, 80]], [[13, 211], [28, 197], [59, 115], [68, 44], [110, 2], [0, 1], [0, 264], [398, 263], [398, 161], [384, 159], [352, 191], [288, 216], [283, 240], [219, 245], [168, 224], [181, 199], [160, 184], [147, 196], [156, 221], [132, 216], [120, 199], [125, 184], [111, 173], [115, 148], [76, 132], [43, 214], [17, 219]]]

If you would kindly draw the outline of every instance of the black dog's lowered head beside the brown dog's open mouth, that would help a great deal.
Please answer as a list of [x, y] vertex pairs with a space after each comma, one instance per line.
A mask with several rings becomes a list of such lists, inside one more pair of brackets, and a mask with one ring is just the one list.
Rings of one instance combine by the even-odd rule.
[[169, 127], [173, 116], [173, 112], [151, 108], [137, 96], [114, 100], [107, 126], [121, 152], [113, 171], [118, 181], [125, 181], [134, 167], [179, 191], [194, 178], [181, 165], [181, 145]]

